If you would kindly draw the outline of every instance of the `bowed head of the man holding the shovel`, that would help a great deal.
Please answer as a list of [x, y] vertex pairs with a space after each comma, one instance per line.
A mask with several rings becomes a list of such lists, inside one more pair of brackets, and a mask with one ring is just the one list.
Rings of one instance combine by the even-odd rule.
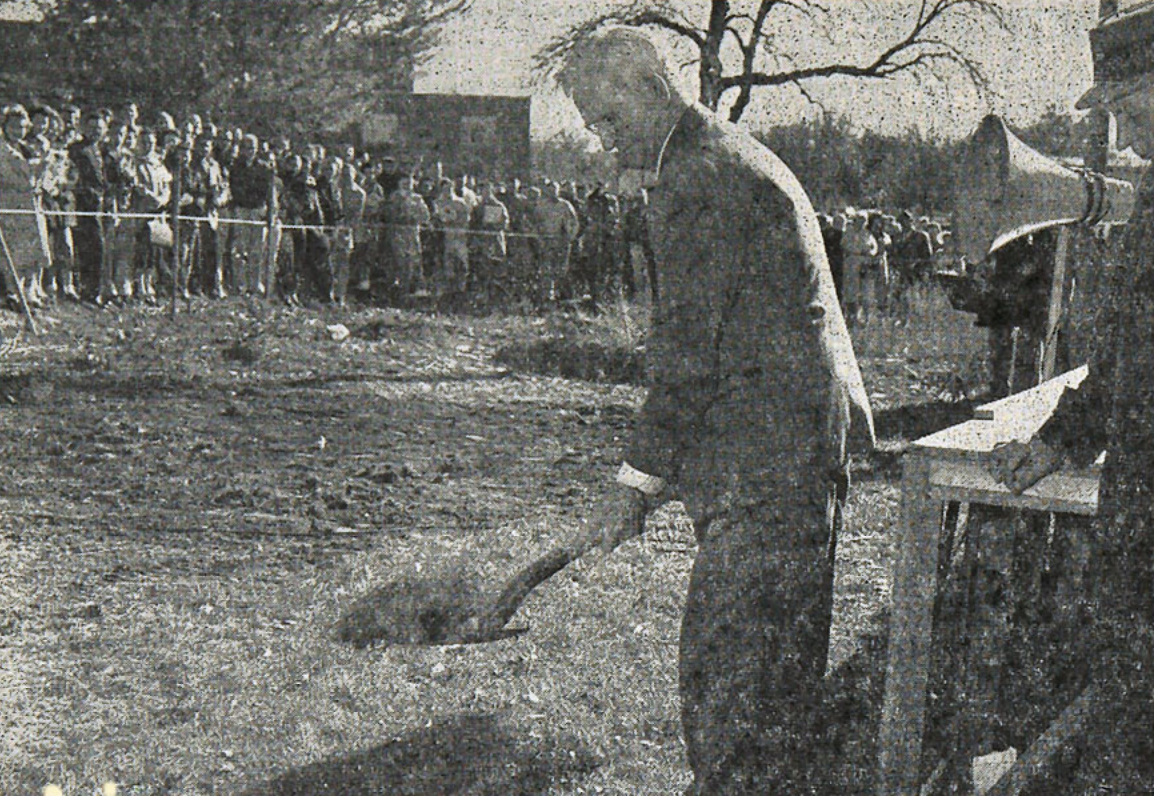
[[688, 106], [657, 46], [642, 31], [610, 28], [583, 40], [557, 73], [585, 125], [624, 168], [655, 168]]

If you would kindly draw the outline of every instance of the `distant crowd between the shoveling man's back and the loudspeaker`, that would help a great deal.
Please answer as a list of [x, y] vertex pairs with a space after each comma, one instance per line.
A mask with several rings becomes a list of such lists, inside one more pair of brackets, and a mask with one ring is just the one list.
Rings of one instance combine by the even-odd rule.
[[819, 213], [818, 221], [850, 328], [879, 315], [901, 323], [911, 288], [947, 268], [950, 233], [926, 216], [846, 208]]

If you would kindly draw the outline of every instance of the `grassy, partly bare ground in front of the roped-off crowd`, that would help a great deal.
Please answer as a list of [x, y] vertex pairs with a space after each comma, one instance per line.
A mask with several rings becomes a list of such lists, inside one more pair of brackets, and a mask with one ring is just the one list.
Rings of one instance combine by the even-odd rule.
[[[518, 639], [361, 652], [331, 634], [391, 577], [497, 579], [578, 528], [643, 398], [643, 309], [46, 316], [0, 361], [0, 793], [688, 783], [676, 643], [694, 542], [676, 505], [541, 587]], [[9, 339], [18, 325], [0, 317]], [[909, 325], [857, 337], [882, 441], [855, 458], [834, 664], [884, 632], [904, 444], [968, 416], [981, 381], [981, 337], [936, 294]], [[830, 772], [846, 793], [872, 775], [855, 716]]]

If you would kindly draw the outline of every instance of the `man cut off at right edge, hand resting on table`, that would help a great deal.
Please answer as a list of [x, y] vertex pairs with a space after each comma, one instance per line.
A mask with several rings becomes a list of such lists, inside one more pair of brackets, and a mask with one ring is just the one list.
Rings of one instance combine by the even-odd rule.
[[[1154, 7], [1107, 16], [1091, 33], [1094, 88], [1078, 106], [1117, 121], [1117, 147], [1154, 157]], [[1064, 463], [1104, 450], [1085, 591], [1063, 606], [1063, 648], [1102, 686], [1080, 759], [1052, 793], [1154, 791], [1154, 181], [1147, 173], [1124, 253], [1094, 296], [1089, 374], [1025, 443], [996, 451], [995, 474], [1022, 491]], [[1070, 756], [1066, 756], [1070, 758]], [[1071, 760], [1066, 760], [1071, 763]]]

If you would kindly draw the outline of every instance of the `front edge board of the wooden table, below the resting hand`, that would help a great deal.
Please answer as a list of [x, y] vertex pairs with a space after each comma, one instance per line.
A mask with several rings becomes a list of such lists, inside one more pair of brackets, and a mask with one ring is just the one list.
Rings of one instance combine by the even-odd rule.
[[1035, 511], [1093, 517], [1097, 513], [1099, 476], [1095, 472], [1062, 471], [1047, 475], [1021, 495], [998, 483], [980, 464], [934, 461], [930, 487], [943, 501], [983, 503]]

